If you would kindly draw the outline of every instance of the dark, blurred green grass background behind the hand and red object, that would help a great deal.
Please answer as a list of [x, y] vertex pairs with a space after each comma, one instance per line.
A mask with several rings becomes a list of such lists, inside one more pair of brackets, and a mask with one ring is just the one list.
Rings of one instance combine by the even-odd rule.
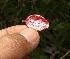
[[48, 19], [30, 59], [70, 59], [70, 0], [0, 0], [0, 29], [21, 25], [31, 14]]

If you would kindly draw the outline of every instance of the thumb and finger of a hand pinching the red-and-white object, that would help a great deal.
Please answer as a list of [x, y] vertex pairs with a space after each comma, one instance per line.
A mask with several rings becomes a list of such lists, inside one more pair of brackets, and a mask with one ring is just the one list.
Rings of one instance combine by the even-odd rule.
[[2, 29], [0, 30], [0, 59], [25, 59], [38, 44], [38, 32], [25, 25]]

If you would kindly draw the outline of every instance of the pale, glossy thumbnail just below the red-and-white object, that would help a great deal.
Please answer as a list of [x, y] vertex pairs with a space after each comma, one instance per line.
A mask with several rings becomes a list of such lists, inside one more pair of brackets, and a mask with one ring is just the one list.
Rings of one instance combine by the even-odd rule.
[[34, 29], [32, 28], [27, 28], [25, 30], [22, 30], [20, 32], [20, 34], [22, 36], [24, 36], [28, 42], [32, 43], [32, 42], [35, 42], [37, 39], [39, 39], [39, 34], [37, 31], [35, 31]]

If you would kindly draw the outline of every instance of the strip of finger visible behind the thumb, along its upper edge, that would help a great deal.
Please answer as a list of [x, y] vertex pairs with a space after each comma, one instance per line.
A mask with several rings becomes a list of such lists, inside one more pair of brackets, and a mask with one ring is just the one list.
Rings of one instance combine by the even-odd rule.
[[27, 28], [26, 25], [16, 25], [16, 26], [8, 27], [6, 29], [2, 29], [2, 30], [0, 30], [0, 37], [2, 37], [3, 35], [6, 35], [6, 34], [18, 33], [21, 30], [24, 30], [26, 28]]

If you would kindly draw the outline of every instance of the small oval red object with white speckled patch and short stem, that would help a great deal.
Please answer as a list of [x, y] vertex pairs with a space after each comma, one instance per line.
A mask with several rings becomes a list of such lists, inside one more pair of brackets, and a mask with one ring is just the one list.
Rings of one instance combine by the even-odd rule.
[[37, 31], [42, 31], [49, 27], [49, 22], [41, 15], [30, 15], [26, 18], [26, 20], [22, 20], [22, 22], [26, 22], [27, 27], [33, 28]]

